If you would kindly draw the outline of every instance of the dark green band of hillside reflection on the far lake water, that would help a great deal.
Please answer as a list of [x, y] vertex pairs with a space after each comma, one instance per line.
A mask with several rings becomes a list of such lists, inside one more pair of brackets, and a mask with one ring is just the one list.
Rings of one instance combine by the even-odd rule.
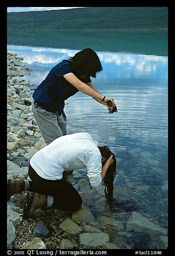
[[[167, 31], [90, 31], [8, 29], [9, 45], [144, 53], [167, 56]], [[18, 35], [18, 36], [17, 36]]]

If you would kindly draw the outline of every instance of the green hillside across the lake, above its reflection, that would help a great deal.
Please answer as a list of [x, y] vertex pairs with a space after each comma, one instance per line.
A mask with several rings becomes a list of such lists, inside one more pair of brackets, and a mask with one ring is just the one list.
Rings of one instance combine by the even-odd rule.
[[167, 7], [92, 7], [7, 13], [13, 30], [167, 29]]

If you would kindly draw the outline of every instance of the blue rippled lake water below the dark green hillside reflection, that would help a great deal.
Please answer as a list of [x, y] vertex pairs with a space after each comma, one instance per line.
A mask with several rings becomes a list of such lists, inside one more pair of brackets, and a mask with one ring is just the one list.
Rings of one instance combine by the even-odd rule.
[[[8, 51], [23, 56], [32, 68], [24, 77], [34, 84], [32, 89], [56, 63], [81, 49], [8, 45]], [[137, 212], [167, 229], [167, 55], [164, 48], [155, 54], [115, 49], [96, 52], [103, 71], [92, 82], [101, 94], [115, 99], [118, 113], [110, 115], [103, 105], [79, 92], [66, 101], [68, 133], [86, 131], [100, 145], [110, 147], [118, 162], [114, 197], [134, 201], [140, 205]], [[72, 182], [76, 183], [74, 175]], [[88, 203], [99, 217], [93, 198]], [[126, 232], [115, 231], [116, 236], [127, 240]], [[162, 236], [152, 235], [148, 248], [164, 248]], [[115, 238], [113, 243], [117, 244]]]

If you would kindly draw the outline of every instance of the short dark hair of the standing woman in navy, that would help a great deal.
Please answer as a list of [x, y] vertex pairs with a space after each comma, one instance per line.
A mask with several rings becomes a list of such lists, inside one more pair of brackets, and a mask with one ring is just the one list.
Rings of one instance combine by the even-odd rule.
[[72, 71], [77, 75], [87, 75], [96, 78], [97, 73], [103, 70], [96, 52], [90, 48], [77, 52], [68, 58]]

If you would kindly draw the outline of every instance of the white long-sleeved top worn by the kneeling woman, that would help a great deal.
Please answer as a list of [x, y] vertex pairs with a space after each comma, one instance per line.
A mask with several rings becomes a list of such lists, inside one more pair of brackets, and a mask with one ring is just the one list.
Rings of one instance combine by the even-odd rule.
[[101, 154], [98, 142], [86, 132], [65, 135], [35, 153], [30, 165], [46, 180], [61, 180], [64, 170], [87, 168], [90, 184], [101, 184]]

